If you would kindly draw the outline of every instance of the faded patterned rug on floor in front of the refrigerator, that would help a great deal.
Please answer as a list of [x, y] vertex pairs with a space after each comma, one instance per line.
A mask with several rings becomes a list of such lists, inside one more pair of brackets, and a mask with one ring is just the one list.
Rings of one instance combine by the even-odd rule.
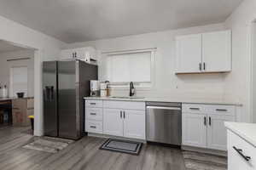
[[41, 150], [49, 153], [56, 153], [59, 150], [63, 150], [68, 144], [72, 144], [73, 140], [59, 139], [51, 137], [35, 137], [29, 144], [24, 145], [22, 148], [30, 150]]

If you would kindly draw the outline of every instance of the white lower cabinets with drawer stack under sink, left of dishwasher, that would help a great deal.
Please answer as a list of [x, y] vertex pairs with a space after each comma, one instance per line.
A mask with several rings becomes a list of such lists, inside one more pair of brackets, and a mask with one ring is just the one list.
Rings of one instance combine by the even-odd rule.
[[86, 132], [146, 139], [145, 102], [88, 99], [85, 103]]

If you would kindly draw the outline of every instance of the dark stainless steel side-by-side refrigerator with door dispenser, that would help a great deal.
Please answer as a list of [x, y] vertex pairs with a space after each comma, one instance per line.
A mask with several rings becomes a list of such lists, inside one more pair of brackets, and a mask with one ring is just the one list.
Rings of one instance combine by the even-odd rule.
[[79, 139], [84, 133], [84, 96], [98, 68], [80, 60], [43, 63], [44, 135]]

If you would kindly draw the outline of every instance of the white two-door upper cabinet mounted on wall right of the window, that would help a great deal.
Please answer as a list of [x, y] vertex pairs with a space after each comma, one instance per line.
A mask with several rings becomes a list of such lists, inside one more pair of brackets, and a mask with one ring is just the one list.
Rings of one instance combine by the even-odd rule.
[[176, 73], [231, 71], [231, 31], [176, 38]]

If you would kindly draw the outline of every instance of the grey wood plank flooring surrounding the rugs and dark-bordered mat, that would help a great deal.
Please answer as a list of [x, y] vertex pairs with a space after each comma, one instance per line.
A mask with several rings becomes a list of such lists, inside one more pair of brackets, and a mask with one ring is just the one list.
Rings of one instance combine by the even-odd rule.
[[98, 150], [105, 139], [84, 137], [58, 153], [28, 150], [27, 127], [0, 129], [1, 170], [185, 170], [181, 150], [143, 144], [139, 156]]

